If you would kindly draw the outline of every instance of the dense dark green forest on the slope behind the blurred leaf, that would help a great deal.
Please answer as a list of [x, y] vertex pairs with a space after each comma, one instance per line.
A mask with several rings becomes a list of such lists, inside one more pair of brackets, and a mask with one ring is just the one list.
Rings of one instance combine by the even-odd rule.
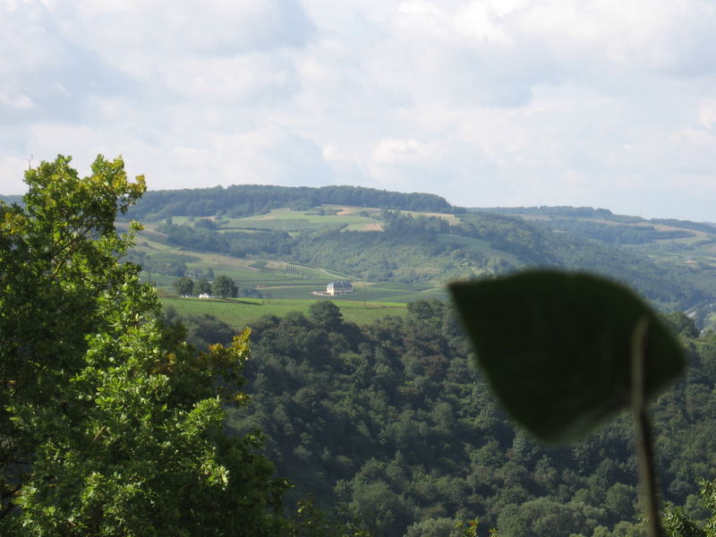
[[[716, 476], [716, 339], [694, 338], [683, 314], [669, 321], [692, 364], [653, 405], [661, 483], [703, 519], [696, 480]], [[373, 535], [447, 536], [475, 516], [480, 535], [644, 534], [629, 416], [569, 447], [535, 444], [496, 406], [444, 303], [412, 303], [405, 320], [366, 327], [315, 303], [307, 316], [257, 321], [251, 351], [251, 405], [230, 413], [230, 427], [263, 430], [296, 494]]]

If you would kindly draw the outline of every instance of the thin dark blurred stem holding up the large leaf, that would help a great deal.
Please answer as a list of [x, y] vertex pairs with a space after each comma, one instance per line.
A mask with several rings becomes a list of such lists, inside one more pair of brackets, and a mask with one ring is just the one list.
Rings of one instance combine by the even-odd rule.
[[656, 470], [652, 426], [646, 410], [644, 383], [644, 346], [649, 321], [641, 319], [632, 334], [632, 411], [636, 427], [636, 453], [639, 465], [639, 481], [646, 502], [646, 519], [649, 537], [666, 537], [659, 515], [659, 495], [656, 487]]

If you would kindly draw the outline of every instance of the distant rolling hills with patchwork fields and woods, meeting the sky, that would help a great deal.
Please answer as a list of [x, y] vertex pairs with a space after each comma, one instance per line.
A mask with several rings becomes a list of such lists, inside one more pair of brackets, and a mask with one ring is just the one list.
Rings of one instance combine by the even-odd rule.
[[547, 266], [634, 286], [702, 324], [716, 302], [716, 226], [608, 209], [464, 209], [432, 194], [360, 187], [147, 192], [128, 218], [145, 225], [132, 260], [170, 290], [175, 277], [226, 275], [266, 298], [311, 299], [336, 278], [361, 296], [411, 302], [444, 284]]

